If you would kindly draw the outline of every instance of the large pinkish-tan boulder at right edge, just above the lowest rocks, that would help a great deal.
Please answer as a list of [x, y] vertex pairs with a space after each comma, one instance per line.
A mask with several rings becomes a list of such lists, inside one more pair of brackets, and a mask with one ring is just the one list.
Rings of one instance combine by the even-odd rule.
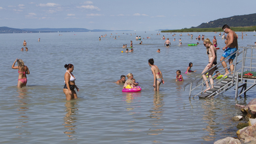
[[245, 139], [245, 137], [248, 136], [256, 138], [256, 124], [239, 129], [236, 132], [236, 135], [238, 136], [238, 139]]

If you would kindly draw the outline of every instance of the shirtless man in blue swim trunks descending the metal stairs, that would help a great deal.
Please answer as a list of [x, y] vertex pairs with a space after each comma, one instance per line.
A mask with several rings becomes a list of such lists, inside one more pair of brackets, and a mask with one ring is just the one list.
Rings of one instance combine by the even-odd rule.
[[[220, 59], [220, 61], [224, 60], [226, 57], [230, 56], [232, 53], [236, 52], [238, 50], [238, 39], [236, 37], [236, 33], [234, 31], [232, 31], [228, 25], [224, 25], [222, 27], [223, 31], [225, 33], [227, 33], [227, 44], [225, 47], [223, 47], [223, 55]], [[232, 72], [234, 70], [234, 65], [233, 65], [233, 60], [236, 57], [236, 55], [232, 55], [231, 57], [228, 58], [228, 62], [230, 65], [230, 72]], [[222, 66], [225, 68], [227, 67], [227, 64], [225, 61], [221, 62]], [[225, 68], [225, 75], [227, 75], [228, 72], [228, 68]], [[232, 72], [233, 73], [233, 72]], [[223, 77], [225, 77], [225, 75]]]

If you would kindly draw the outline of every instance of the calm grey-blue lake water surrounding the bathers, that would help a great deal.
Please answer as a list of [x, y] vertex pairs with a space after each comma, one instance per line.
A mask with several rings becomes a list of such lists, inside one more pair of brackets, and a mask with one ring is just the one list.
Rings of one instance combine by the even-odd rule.
[[[254, 44], [253, 32], [245, 33], [248, 36], [244, 34], [243, 40], [241, 32], [237, 33], [239, 46]], [[99, 41], [99, 36], [105, 34]], [[234, 88], [214, 98], [189, 100], [189, 88], [183, 91], [184, 84], [200, 75], [208, 63], [203, 41], [195, 38], [205, 35], [212, 41], [215, 35], [218, 47], [225, 45], [219, 33], [190, 33], [193, 39], [187, 33], [179, 34], [175, 37], [167, 33], [157, 35], [157, 31], [0, 34], [0, 73], [5, 81], [0, 86], [0, 142], [212, 144], [228, 136], [236, 137], [238, 122], [231, 118], [241, 112], [234, 105], [246, 105], [255, 98], [256, 89], [237, 100]], [[170, 39], [171, 47], [164, 46], [163, 35]], [[136, 36], [142, 37], [142, 45], [135, 40]], [[20, 51], [24, 40], [28, 51]], [[123, 44], [130, 46], [131, 40], [134, 52], [121, 53], [125, 51]], [[187, 45], [196, 42], [198, 46]], [[161, 52], [157, 53], [157, 49]], [[222, 53], [223, 50], [217, 50], [218, 60]], [[11, 69], [16, 58], [21, 58], [30, 71], [27, 86], [21, 89], [16, 87], [18, 71]], [[160, 85], [159, 92], [153, 91], [149, 58], [154, 58], [163, 74], [165, 84]], [[189, 62], [197, 72], [185, 75]], [[69, 63], [74, 65], [73, 74], [80, 91], [79, 99], [66, 101], [64, 64]], [[175, 82], [178, 69], [184, 82]], [[114, 83], [128, 73], [133, 73], [142, 91], [122, 93], [122, 84]]]

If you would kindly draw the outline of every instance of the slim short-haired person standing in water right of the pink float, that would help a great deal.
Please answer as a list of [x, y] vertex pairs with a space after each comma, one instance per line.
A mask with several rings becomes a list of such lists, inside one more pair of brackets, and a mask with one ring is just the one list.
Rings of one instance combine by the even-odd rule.
[[160, 84], [161, 83], [164, 84], [164, 78], [163, 78], [162, 72], [160, 71], [160, 69], [158, 69], [156, 65], [154, 65], [153, 58], [150, 58], [148, 60], [148, 64], [149, 66], [151, 66], [151, 71], [154, 76], [154, 83], [153, 83], [154, 91], [159, 91]]

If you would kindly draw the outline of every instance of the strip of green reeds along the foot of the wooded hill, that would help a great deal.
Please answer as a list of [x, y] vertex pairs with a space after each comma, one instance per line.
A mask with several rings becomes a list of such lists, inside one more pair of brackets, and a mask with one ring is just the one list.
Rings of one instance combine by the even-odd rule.
[[[254, 31], [256, 30], [256, 26], [250, 27], [230, 27], [233, 31]], [[189, 32], [218, 32], [223, 31], [221, 27], [215, 28], [189, 28], [189, 29], [174, 29], [174, 30], [167, 30], [161, 31], [161, 33], [189, 33]]]

